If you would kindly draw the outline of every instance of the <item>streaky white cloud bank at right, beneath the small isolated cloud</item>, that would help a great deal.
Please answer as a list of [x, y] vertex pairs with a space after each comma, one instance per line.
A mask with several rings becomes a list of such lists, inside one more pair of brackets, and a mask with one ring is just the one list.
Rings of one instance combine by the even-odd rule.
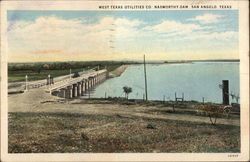
[[[157, 37], [162, 42], [184, 42], [184, 41], [236, 41], [236, 31], [215, 31], [215, 26], [204, 26], [193, 23], [184, 23], [173, 20], [163, 20], [153, 26], [146, 26], [151, 37]], [[159, 42], [157, 42], [159, 43]], [[213, 44], [215, 42], [211, 42]]]

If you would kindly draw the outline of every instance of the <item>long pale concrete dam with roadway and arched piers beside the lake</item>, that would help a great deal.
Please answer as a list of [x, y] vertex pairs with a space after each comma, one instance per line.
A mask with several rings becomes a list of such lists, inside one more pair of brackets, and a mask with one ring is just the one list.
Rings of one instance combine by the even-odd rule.
[[90, 89], [93, 89], [108, 78], [106, 69], [88, 70], [78, 72], [78, 74], [78, 77], [73, 77], [73, 74], [70, 74], [56, 78], [49, 75], [47, 79], [31, 82], [28, 82], [26, 79], [25, 91], [34, 88], [44, 88], [45, 92], [51, 95], [71, 99], [85, 95]]

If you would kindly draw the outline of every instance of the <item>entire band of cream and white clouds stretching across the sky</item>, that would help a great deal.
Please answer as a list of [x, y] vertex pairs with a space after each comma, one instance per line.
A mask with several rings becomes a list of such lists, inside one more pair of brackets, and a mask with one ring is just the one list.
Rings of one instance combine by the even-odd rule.
[[[157, 24], [126, 17], [102, 17], [94, 23], [82, 19], [42, 16], [34, 21], [9, 21], [10, 59], [25, 55], [34, 59], [133, 59], [136, 54], [164, 53], [192, 47], [207, 49], [237, 42], [238, 32], [215, 32], [212, 26], [162, 20]], [[112, 48], [111, 48], [112, 47]], [[113, 48], [114, 47], [114, 48]], [[24, 58], [24, 57], [23, 57]]]

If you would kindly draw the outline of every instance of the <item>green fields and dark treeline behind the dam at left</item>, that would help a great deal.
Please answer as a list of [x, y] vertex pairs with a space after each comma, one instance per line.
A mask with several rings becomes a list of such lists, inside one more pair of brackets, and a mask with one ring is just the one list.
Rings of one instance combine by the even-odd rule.
[[8, 82], [29, 81], [77, 73], [83, 70], [104, 69], [113, 71], [121, 65], [138, 64], [136, 61], [70, 61], [70, 62], [37, 62], [8, 63]]

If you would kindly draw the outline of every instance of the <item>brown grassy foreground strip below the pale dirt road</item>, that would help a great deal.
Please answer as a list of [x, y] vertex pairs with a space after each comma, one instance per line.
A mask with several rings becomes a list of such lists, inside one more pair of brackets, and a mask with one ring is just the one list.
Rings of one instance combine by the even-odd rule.
[[77, 113], [9, 113], [9, 152], [239, 152], [240, 127]]

